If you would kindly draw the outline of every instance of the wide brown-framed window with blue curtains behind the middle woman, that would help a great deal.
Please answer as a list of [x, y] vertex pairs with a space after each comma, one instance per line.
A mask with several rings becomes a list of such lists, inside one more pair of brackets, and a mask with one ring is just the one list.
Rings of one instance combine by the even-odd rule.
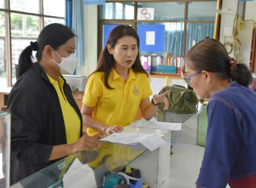
[[[126, 7], [129, 5], [129, 9]], [[166, 52], [172, 56], [185, 56], [185, 52], [199, 40], [206, 36], [214, 38], [214, 23], [217, 1], [150, 1], [150, 2], [122, 2], [108, 1], [100, 6], [100, 50], [104, 48], [107, 38], [103, 26], [129, 24], [139, 30], [141, 26], [164, 26], [164, 50], [143, 51], [141, 55], [158, 54], [164, 56]], [[137, 19], [137, 14], [143, 8], [154, 9], [154, 19]], [[123, 14], [121, 14], [123, 12]], [[125, 16], [129, 13], [129, 16]], [[152, 15], [150, 15], [152, 17]], [[141, 38], [140, 38], [141, 40]], [[143, 39], [142, 39], [143, 40]], [[100, 51], [98, 52], [100, 53]]]

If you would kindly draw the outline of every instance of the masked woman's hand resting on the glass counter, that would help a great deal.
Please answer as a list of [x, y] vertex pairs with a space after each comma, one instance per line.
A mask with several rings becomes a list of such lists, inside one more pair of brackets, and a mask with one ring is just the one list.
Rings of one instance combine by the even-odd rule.
[[84, 134], [81, 138], [79, 138], [79, 140], [77, 140], [77, 142], [71, 144], [71, 151], [72, 153], [82, 150], [88, 151], [92, 148], [95, 148], [96, 146], [100, 146], [98, 139]]

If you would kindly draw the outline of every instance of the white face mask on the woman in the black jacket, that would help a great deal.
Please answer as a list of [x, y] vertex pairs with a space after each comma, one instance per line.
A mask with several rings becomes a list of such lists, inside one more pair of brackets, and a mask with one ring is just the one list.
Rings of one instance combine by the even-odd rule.
[[[59, 56], [57, 52], [55, 53]], [[59, 56], [59, 58], [61, 58], [61, 56]], [[74, 54], [71, 54], [67, 58], [61, 58], [60, 64], [58, 64], [55, 60], [53, 60], [53, 62], [55, 62], [61, 68], [61, 75], [73, 75], [77, 66], [78, 59]]]

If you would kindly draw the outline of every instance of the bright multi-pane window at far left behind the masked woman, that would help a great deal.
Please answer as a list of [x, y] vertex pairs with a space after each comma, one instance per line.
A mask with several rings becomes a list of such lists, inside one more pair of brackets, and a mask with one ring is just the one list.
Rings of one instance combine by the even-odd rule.
[[44, 26], [54, 22], [65, 23], [65, 0], [0, 0], [1, 87], [13, 86], [20, 53], [37, 40]]

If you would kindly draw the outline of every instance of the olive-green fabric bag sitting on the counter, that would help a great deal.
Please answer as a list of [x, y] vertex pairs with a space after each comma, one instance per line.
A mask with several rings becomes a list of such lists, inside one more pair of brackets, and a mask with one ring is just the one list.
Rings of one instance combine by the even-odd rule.
[[[169, 107], [166, 111], [182, 114], [197, 113], [199, 99], [194, 91], [181, 85], [172, 85], [163, 87], [159, 94], [162, 94], [169, 89], [170, 93], [166, 95], [169, 101]], [[158, 109], [164, 110], [164, 103], [160, 103]]]

